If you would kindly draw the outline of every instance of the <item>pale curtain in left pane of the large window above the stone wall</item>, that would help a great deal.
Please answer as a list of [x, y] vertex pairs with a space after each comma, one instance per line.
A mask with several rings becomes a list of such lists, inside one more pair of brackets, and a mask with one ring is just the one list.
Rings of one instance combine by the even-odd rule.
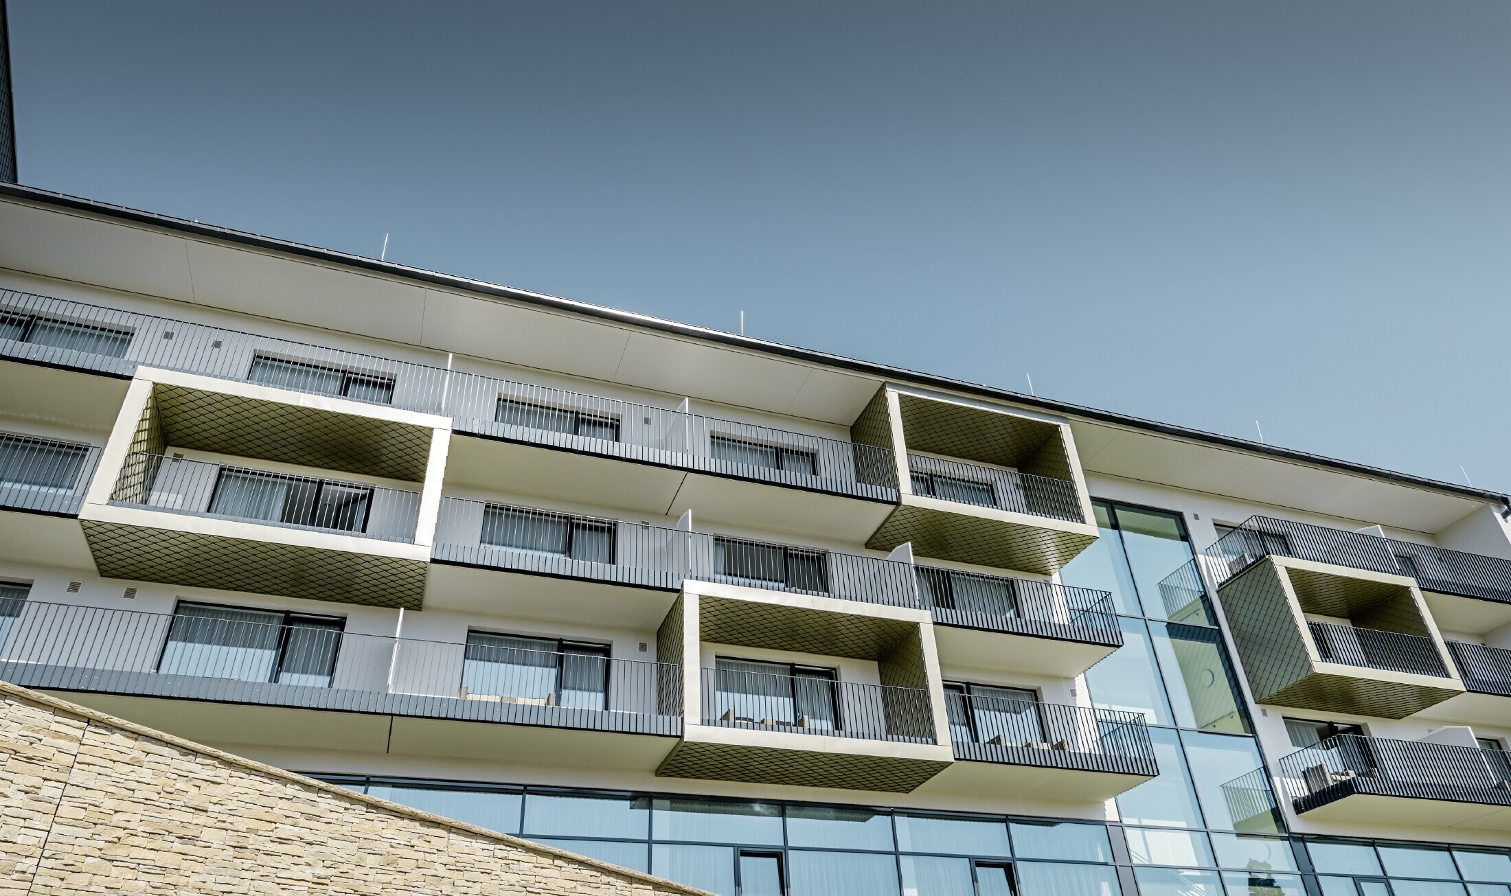
[[157, 671], [165, 675], [270, 681], [283, 613], [181, 603]]

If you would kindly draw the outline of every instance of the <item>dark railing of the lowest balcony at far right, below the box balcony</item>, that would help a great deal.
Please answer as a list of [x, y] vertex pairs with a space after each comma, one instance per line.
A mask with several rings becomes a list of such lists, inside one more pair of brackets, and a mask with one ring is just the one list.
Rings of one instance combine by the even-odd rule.
[[1500, 749], [1337, 734], [1278, 768], [1298, 813], [1354, 793], [1511, 805], [1511, 757]]

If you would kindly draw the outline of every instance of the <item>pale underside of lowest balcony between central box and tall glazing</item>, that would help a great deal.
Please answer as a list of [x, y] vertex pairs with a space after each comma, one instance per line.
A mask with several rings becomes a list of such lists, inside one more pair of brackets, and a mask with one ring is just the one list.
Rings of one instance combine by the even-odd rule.
[[925, 786], [926, 790], [1003, 799], [1102, 802], [1159, 774], [1153, 762], [1141, 763], [1147, 768], [1136, 771], [1111, 771], [1118, 765], [1102, 755], [990, 743], [956, 743], [955, 759]]

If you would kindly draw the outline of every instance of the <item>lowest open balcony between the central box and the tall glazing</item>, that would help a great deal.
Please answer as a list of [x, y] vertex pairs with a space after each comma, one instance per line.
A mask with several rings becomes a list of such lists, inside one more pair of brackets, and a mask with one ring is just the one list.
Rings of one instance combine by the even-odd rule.
[[961, 762], [931, 789], [1100, 802], [1159, 774], [1141, 713], [956, 692], [944, 704]]

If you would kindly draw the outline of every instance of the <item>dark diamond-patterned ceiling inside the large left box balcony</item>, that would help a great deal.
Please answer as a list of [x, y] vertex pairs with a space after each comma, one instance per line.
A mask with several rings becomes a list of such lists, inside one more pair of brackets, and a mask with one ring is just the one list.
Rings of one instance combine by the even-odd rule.
[[425, 479], [431, 431], [423, 426], [178, 385], [159, 384], [153, 396], [172, 446], [405, 482]]

